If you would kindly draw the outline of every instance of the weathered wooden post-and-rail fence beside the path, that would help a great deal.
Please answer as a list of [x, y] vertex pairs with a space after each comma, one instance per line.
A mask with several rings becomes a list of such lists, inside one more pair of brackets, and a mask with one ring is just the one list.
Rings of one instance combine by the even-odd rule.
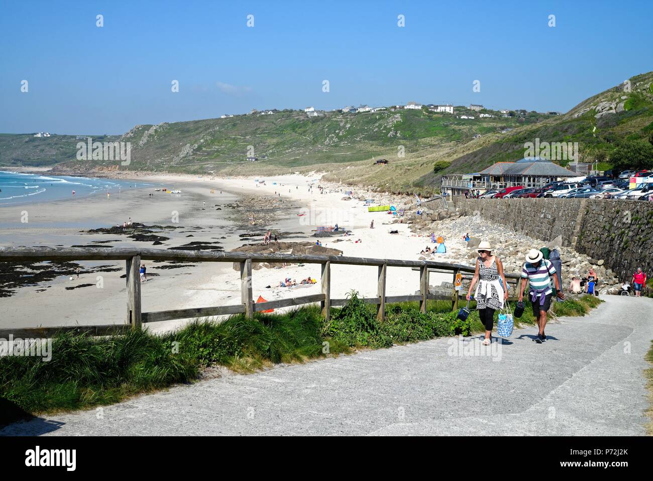
[[[332, 306], [345, 305], [347, 299], [331, 298], [331, 266], [343, 265], [368, 265], [378, 267], [377, 296], [364, 299], [368, 304], [377, 305], [377, 317], [385, 317], [385, 305], [404, 301], [419, 301], [422, 312], [426, 312], [426, 301], [449, 300], [453, 309], [458, 308], [459, 291], [455, 288], [450, 294], [431, 294], [428, 292], [428, 274], [430, 272], [452, 274], [452, 283], [455, 285], [456, 275], [471, 278], [474, 267], [463, 264], [452, 264], [439, 261], [404, 261], [400, 259], [370, 259], [364, 257], [347, 256], [293, 256], [291, 254], [246, 254], [243, 252], [213, 252], [213, 251], [185, 251], [185, 250], [159, 250], [136, 248], [0, 248], [0, 262], [36, 262], [36, 261], [109, 261], [123, 260], [127, 270], [127, 309], [125, 323], [114, 325], [87, 325], [63, 327], [30, 327], [22, 329], [0, 329], [0, 336], [13, 334], [14, 337], [48, 337], [55, 331], [90, 331], [93, 335], [121, 332], [128, 328], [137, 328], [142, 323], [167, 321], [174, 319], [199, 318], [208, 316], [223, 316], [243, 313], [253, 317], [255, 312], [262, 310], [298, 306], [309, 303], [320, 303], [322, 314], [330, 317]], [[229, 306], [187, 308], [178, 310], [164, 310], [157, 312], [142, 312], [140, 305], [140, 274], [141, 261], [186, 261], [186, 262], [230, 262], [240, 263], [240, 293], [241, 303]], [[319, 294], [279, 299], [255, 303], [251, 287], [251, 263], [313, 263], [321, 265], [321, 288]], [[388, 267], [410, 267], [420, 271], [419, 294], [413, 295], [385, 295], [385, 286]], [[509, 284], [518, 288], [521, 282], [518, 274], [505, 274]], [[352, 286], [353, 288], [354, 286]], [[464, 299], [464, 291], [463, 293]], [[513, 294], [517, 293], [517, 289]], [[515, 299], [515, 295], [511, 297]]]

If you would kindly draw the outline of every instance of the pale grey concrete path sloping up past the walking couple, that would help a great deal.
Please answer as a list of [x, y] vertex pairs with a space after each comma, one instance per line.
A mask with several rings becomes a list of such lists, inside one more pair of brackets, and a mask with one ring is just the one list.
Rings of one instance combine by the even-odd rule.
[[477, 340], [430, 340], [206, 380], [0, 435], [645, 435], [653, 299], [603, 299], [590, 316], [549, 325], [544, 344], [522, 329], [492, 356], [470, 355]]

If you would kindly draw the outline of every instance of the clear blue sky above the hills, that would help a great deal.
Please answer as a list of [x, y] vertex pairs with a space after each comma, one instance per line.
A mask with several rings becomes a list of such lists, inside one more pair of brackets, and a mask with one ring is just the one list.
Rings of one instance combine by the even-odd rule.
[[566, 112], [653, 70], [650, 0], [0, 2], [0, 133], [408, 101]]

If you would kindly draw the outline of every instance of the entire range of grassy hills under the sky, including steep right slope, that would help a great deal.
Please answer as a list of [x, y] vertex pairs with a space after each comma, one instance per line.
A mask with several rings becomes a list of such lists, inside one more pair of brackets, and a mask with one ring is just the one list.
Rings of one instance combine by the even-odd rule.
[[[131, 142], [131, 164], [77, 161], [76, 139], [0, 135], [0, 165], [50, 165], [59, 173], [146, 170], [216, 175], [327, 172], [328, 180], [394, 192], [431, 193], [439, 175], [471, 173], [497, 161], [524, 157], [526, 142], [578, 142], [580, 161], [607, 169], [616, 143], [653, 133], [653, 72], [629, 79], [556, 116], [537, 112], [473, 112], [454, 115], [426, 110], [360, 114], [302, 111], [136, 125], [119, 138]], [[480, 118], [480, 113], [494, 115]], [[474, 116], [461, 119], [462, 115]], [[481, 135], [473, 139], [475, 135]], [[258, 160], [248, 161], [253, 154]], [[386, 158], [387, 165], [372, 166]], [[449, 167], [433, 172], [435, 161]], [[560, 161], [566, 165], [567, 161]]]

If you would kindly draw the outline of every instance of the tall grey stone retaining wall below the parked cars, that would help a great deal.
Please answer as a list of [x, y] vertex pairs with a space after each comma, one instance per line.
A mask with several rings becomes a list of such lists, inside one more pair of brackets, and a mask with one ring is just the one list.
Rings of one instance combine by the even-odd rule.
[[598, 199], [464, 199], [466, 216], [488, 220], [534, 237], [554, 240], [594, 259], [604, 259], [621, 280], [641, 266], [653, 275], [653, 203]]

